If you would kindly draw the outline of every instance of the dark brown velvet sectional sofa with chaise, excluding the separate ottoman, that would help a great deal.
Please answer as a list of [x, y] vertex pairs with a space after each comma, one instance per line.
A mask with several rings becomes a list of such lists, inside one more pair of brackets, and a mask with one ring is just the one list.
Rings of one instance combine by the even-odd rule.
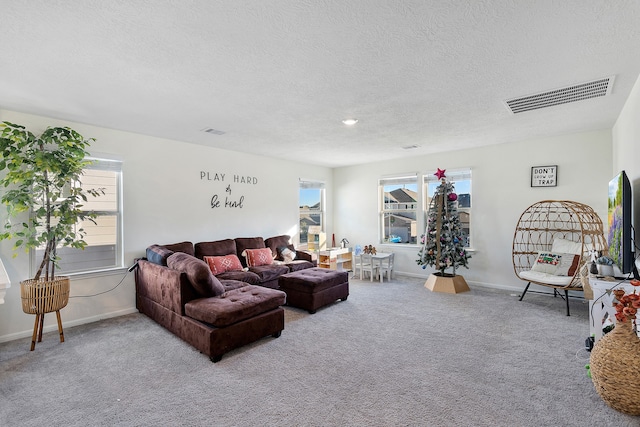
[[[277, 290], [279, 277], [314, 263], [298, 251], [291, 263], [246, 267], [245, 249], [268, 247], [278, 256], [283, 247], [292, 248], [289, 236], [266, 241], [270, 246], [261, 237], [150, 246], [135, 272], [136, 307], [213, 362], [266, 336], [279, 337], [286, 303], [286, 294]], [[230, 254], [238, 255], [246, 268], [213, 275], [203, 261]]]

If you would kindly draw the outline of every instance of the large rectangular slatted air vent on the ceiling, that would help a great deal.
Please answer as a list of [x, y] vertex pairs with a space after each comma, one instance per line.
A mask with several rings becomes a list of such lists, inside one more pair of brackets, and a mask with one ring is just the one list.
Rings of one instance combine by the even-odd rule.
[[569, 102], [598, 98], [611, 93], [613, 79], [614, 76], [606, 77], [534, 95], [509, 99], [505, 101], [505, 103], [509, 111], [516, 114], [537, 110], [539, 108], [553, 107], [554, 105], [567, 104]]

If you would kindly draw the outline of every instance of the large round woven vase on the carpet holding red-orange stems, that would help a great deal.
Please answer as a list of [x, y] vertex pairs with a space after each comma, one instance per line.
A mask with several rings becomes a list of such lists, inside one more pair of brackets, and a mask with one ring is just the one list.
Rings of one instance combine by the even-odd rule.
[[617, 322], [591, 350], [591, 378], [596, 391], [620, 412], [640, 415], [640, 339], [631, 322]]

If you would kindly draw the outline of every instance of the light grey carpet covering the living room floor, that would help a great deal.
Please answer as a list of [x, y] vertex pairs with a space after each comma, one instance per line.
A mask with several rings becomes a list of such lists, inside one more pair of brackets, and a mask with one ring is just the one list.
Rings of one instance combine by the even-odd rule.
[[423, 283], [351, 280], [215, 364], [141, 314], [0, 344], [0, 425], [640, 426], [587, 377], [586, 301]]

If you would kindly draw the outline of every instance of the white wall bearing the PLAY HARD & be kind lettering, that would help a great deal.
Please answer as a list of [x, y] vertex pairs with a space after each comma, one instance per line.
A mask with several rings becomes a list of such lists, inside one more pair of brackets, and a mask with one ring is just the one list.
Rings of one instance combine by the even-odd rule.
[[[0, 120], [24, 125], [36, 134], [47, 126], [70, 126], [86, 138], [96, 138], [89, 150], [93, 155], [123, 161], [126, 265], [132, 265], [153, 243], [295, 234], [300, 178], [325, 181], [327, 209], [329, 212], [333, 209], [333, 171], [329, 168], [6, 110], [0, 110]], [[211, 180], [201, 179], [201, 172], [209, 172]], [[216, 173], [220, 177], [224, 174], [224, 181], [215, 181]], [[253, 179], [252, 184], [234, 182], [233, 175], [255, 178], [256, 183], [253, 184]], [[244, 196], [243, 207], [212, 209], [210, 201], [214, 194], [224, 205], [227, 186], [231, 189], [230, 199]], [[4, 224], [5, 219], [6, 210], [2, 207], [0, 222]], [[327, 227], [331, 230], [330, 216]], [[0, 242], [0, 257], [12, 281], [6, 302], [0, 305], [0, 341], [30, 336], [34, 321], [34, 316], [24, 314], [20, 305], [19, 282], [30, 277], [29, 259], [23, 251], [13, 258], [12, 246], [13, 242]], [[125, 272], [72, 279], [71, 295], [111, 289]], [[135, 311], [134, 296], [133, 274], [129, 274], [112, 292], [92, 298], [72, 298], [61, 311], [63, 326]], [[56, 329], [55, 315], [45, 316], [45, 328]]]

